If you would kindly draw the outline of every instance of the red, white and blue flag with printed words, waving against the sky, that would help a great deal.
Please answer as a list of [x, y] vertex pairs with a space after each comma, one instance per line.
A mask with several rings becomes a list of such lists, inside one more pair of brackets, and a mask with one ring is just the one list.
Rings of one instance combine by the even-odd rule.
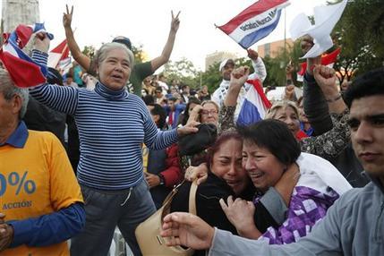
[[247, 49], [275, 30], [281, 9], [288, 4], [288, 0], [260, 0], [218, 29]]

